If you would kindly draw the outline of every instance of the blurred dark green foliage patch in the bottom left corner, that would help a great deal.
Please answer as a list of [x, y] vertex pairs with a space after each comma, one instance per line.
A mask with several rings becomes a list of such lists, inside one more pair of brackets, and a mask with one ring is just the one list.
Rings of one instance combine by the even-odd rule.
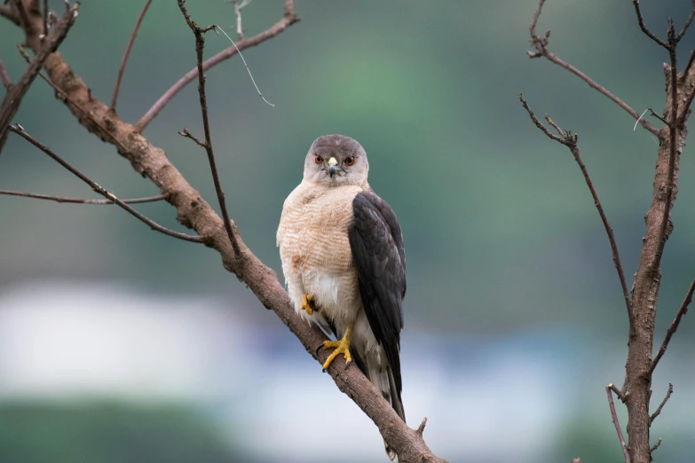
[[0, 404], [4, 463], [210, 463], [233, 460], [228, 439], [181, 404]]

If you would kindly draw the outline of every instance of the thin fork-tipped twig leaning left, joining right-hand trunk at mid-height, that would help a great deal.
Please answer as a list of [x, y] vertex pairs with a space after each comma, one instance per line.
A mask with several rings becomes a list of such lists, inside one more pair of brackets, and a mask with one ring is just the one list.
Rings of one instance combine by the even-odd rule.
[[615, 236], [613, 235], [613, 229], [611, 228], [611, 225], [608, 224], [608, 218], [605, 216], [604, 213], [604, 207], [601, 205], [601, 201], [598, 199], [598, 194], [596, 193], [596, 189], [594, 188], [594, 184], [591, 181], [591, 177], [588, 176], [588, 170], [587, 167], [584, 165], [584, 162], [581, 161], [580, 158], [580, 150], [579, 147], [577, 146], [577, 135], [574, 134], [572, 135], [571, 132], [563, 132], [562, 129], [560, 129], [555, 122], [553, 122], [552, 119], [548, 117], [546, 114], [546, 120], [549, 122], [550, 125], [552, 125], [555, 129], [557, 129], [557, 132], [560, 134], [565, 134], [562, 135], [561, 137], [557, 137], [556, 135], [552, 134], [549, 129], [547, 129], [536, 117], [535, 114], [533, 114], [533, 111], [531, 108], [528, 106], [528, 103], [526, 103], [526, 100], [524, 97], [519, 94], [519, 100], [521, 101], [521, 104], [524, 106], [526, 112], [528, 112], [529, 116], [531, 116], [531, 120], [533, 123], [541, 129], [549, 138], [557, 141], [558, 143], [561, 143], [565, 146], [567, 146], [570, 151], [572, 152], [574, 156], [574, 161], [577, 162], [577, 165], [579, 165], [581, 173], [584, 176], [584, 181], [587, 183], [588, 190], [591, 192], [591, 197], [594, 199], [594, 206], [596, 206], [596, 210], [598, 210], [598, 215], [601, 216], [601, 222], [604, 223], [604, 229], [606, 234], [608, 235], [608, 241], [611, 244], [611, 252], [613, 256], [613, 264], [615, 265], [615, 270], [618, 272], [618, 278], [620, 279], [620, 287], [622, 288], [622, 294], [623, 298], [625, 299], [625, 306], [628, 309], [628, 319], [629, 319], [629, 324], [630, 324], [630, 331], [634, 329], [635, 326], [635, 314], [632, 310], [632, 302], [630, 300], [630, 296], [628, 294], [628, 285], [625, 282], [625, 272], [622, 270], [622, 263], [620, 263], [620, 254], [618, 253], [618, 245], [615, 242]]

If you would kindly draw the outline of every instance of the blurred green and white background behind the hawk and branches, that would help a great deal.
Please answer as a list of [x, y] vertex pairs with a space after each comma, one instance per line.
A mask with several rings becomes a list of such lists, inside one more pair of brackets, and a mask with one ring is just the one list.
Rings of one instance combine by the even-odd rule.
[[[102, 101], [142, 4], [85, 2], [60, 49]], [[312, 140], [342, 133], [367, 150], [370, 184], [397, 212], [406, 242], [408, 420], [427, 415], [428, 443], [451, 461], [621, 458], [604, 393], [622, 381], [627, 346], [610, 247], [571, 154], [533, 127], [518, 94], [579, 133], [630, 279], [658, 142], [586, 83], [527, 57], [536, 4], [297, 0], [301, 22], [244, 52], [274, 107], [238, 57], [208, 73], [230, 215], [276, 271], [282, 201], [301, 180]], [[680, 27], [691, 9], [685, 0], [642, 4], [661, 36], [668, 16]], [[231, 4], [188, 7], [201, 25], [235, 36]], [[255, 0], [243, 10], [246, 35], [281, 13], [280, 0]], [[548, 28], [551, 51], [638, 113], [663, 108], [667, 55], [640, 32], [631, 2], [550, 0], [539, 31]], [[680, 45], [681, 66], [693, 37]], [[13, 79], [25, 68], [21, 41], [0, 21], [0, 58]], [[228, 45], [208, 35], [206, 56]], [[119, 115], [136, 122], [193, 66], [193, 35], [176, 2], [155, 0], [125, 70]], [[118, 197], [157, 193], [44, 82], [16, 121]], [[194, 84], [145, 135], [216, 205], [205, 155], [177, 135], [183, 128], [201, 134]], [[658, 342], [695, 276], [691, 153], [686, 146], [664, 254]], [[0, 189], [94, 197], [16, 136], [0, 157]], [[138, 210], [183, 230], [165, 204]], [[664, 438], [655, 461], [692, 460], [694, 342], [691, 320], [683, 322], [655, 376], [652, 408], [669, 381], [675, 387], [652, 428], [653, 441]], [[115, 207], [0, 197], [0, 334], [3, 462], [385, 460], [374, 426], [215, 252], [150, 232]], [[337, 416], [351, 430], [322, 429]]]

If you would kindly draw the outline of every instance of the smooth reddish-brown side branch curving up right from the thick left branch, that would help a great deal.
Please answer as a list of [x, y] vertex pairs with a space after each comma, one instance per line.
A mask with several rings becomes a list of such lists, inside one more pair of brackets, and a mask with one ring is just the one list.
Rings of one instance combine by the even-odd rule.
[[[285, 2], [286, 7], [287, 7], [288, 3], [290, 4], [290, 6], [292, 4], [292, 2], [286, 1]], [[213, 56], [209, 59], [206, 59], [202, 63], [202, 70], [207, 71], [210, 67], [217, 66], [217, 64], [221, 63], [225, 59], [232, 58], [235, 54], [238, 53], [237, 49], [239, 49], [239, 51], [242, 51], [242, 50], [245, 50], [249, 47], [253, 47], [253, 46], [256, 46], [260, 43], [263, 43], [268, 39], [271, 39], [275, 35], [280, 34], [282, 31], [284, 31], [286, 28], [288, 28], [292, 24], [296, 23], [298, 20], [299, 20], [299, 18], [297, 18], [296, 14], [293, 11], [290, 10], [289, 12], [287, 12], [287, 10], [286, 10], [285, 16], [280, 21], [275, 23], [272, 27], [265, 30], [265, 32], [262, 32], [258, 35], [254, 35], [253, 37], [250, 37], [247, 39], [240, 40], [239, 42], [236, 43], [236, 47], [231, 46], [229, 48], [226, 48], [223, 51], [220, 51], [215, 56]], [[156, 115], [162, 111], [164, 106], [167, 106], [167, 104], [170, 102], [171, 98], [174, 98], [174, 96], [180, 90], [182, 90], [184, 87], [186, 87], [186, 85], [189, 82], [193, 81], [193, 79], [195, 79], [197, 76], [198, 76], [198, 67], [196, 66], [196, 67], [193, 67], [193, 69], [191, 69], [190, 71], [188, 71], [188, 73], [186, 73], [186, 75], [181, 77], [178, 80], [178, 82], [174, 83], [174, 85], [172, 85], [170, 87], [170, 89], [167, 90], [162, 95], [162, 97], [160, 97], [156, 101], [156, 103], [154, 103], [154, 105], [150, 109], [147, 110], [146, 114], [143, 115], [140, 118], [140, 120], [138, 121], [138, 123], [135, 124], [135, 129], [138, 132], [142, 132], [146, 128], [147, 124], [152, 122], [154, 117], [156, 117]]]

